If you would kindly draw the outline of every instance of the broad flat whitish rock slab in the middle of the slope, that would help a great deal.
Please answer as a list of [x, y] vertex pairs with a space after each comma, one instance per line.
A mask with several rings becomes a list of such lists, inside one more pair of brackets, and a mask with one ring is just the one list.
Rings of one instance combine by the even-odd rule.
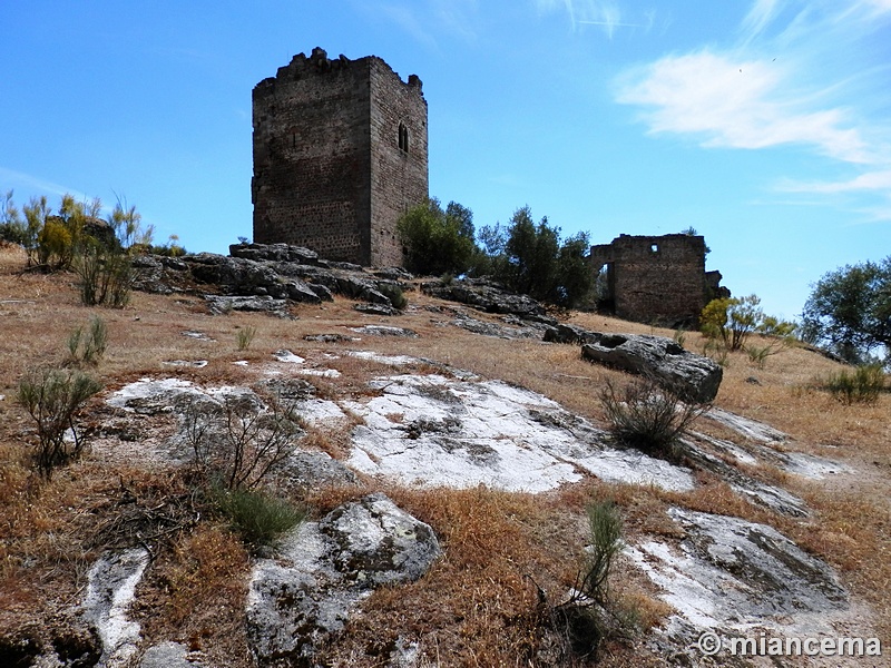
[[[408, 487], [541, 493], [596, 475], [608, 482], [694, 488], [688, 469], [617, 450], [588, 421], [541, 394], [500, 381], [391, 375], [380, 392], [344, 404], [353, 429], [352, 469]], [[398, 419], [393, 420], [394, 416]]]

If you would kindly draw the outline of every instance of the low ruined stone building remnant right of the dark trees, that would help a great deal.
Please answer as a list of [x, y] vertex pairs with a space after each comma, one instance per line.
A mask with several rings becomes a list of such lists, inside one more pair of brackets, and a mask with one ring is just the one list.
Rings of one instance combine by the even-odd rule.
[[621, 235], [591, 247], [597, 271], [608, 267], [611, 307], [618, 317], [669, 326], [693, 325], [706, 301], [702, 236]]

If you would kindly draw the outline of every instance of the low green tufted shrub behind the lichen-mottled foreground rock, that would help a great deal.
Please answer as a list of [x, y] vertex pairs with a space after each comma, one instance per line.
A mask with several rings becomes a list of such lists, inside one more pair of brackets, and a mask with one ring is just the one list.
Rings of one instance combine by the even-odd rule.
[[306, 519], [306, 511], [262, 490], [214, 488], [213, 500], [246, 543], [272, 544]]

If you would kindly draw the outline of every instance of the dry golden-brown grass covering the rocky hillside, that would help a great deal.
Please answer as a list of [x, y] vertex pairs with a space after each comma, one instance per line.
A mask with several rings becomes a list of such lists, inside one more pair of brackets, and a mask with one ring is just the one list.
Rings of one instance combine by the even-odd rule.
[[[23, 443], [31, 428], [13, 401], [18, 379], [39, 364], [60, 362], [68, 334], [92, 314], [108, 325], [109, 347], [96, 370], [108, 390], [145, 375], [178, 376], [207, 386], [251, 384], [280, 348], [305, 357], [307, 366], [341, 372], [339, 379], [307, 377], [317, 395], [329, 399], [361, 400], [372, 393], [368, 381], [378, 375], [440, 372], [427, 364], [394, 372], [343, 354], [372, 350], [427, 357], [516, 383], [600, 422], [599, 385], [605, 379], [624, 380], [620, 373], [584, 362], [577, 346], [506, 341], [442, 326], [440, 323], [452, 317], [449, 310], [458, 306], [418, 292], [407, 293], [409, 310], [390, 320], [361, 315], [345, 299], [300, 306], [296, 321], [238, 313], [210, 316], [197, 297], [138, 293], [127, 308], [108, 311], [80, 306], [71, 276], [19, 274], [22, 264], [20, 253], [0, 249], [4, 326], [0, 394], [6, 395], [6, 401], [0, 401], [0, 628], [6, 629], [51, 620], [57, 610], [78, 600], [86, 569], [106, 544], [96, 536], [101, 534], [120, 500], [121, 480], [146, 502], [160, 503], [163, 498], [187, 490], [182, 479], [167, 471], [134, 468], [138, 462], [120, 458], [88, 456], [61, 469], [49, 484], [30, 472]], [[443, 306], [444, 312], [427, 311], [427, 305]], [[471, 314], [499, 322], [497, 316]], [[673, 334], [593, 314], [572, 314], [570, 322], [606, 332]], [[321, 333], [359, 336], [350, 327], [369, 323], [411, 327], [420, 337], [362, 336], [362, 341], [331, 344], [304, 340]], [[248, 326], [256, 328], [256, 335], [249, 350], [238, 351], [236, 333]], [[195, 331], [213, 341], [183, 334]], [[703, 341], [696, 333], [686, 333], [685, 345], [698, 352]], [[206, 360], [208, 364], [203, 369], [164, 365], [173, 360]], [[239, 360], [247, 360], [248, 366], [235, 365]], [[384, 665], [396, 637], [419, 641], [428, 665], [547, 665], [549, 640], [541, 630], [535, 583], [554, 600], [565, 595], [578, 568], [585, 505], [593, 498], [610, 498], [620, 505], [631, 542], [653, 534], [683, 538], [666, 514], [673, 504], [771, 523], [836, 566], [853, 597], [870, 603], [871, 621], [891, 641], [891, 395], [885, 393], [875, 405], [845, 406], [811, 387], [815, 377], [838, 369], [804, 350], [772, 356], [763, 370], [744, 353], [734, 353], [716, 400], [724, 409], [790, 434], [791, 441], [782, 448], [836, 459], [855, 471], [812, 483], [755, 471], [802, 495], [814, 509], [807, 520], [793, 521], [754, 507], [706, 474], [699, 474], [697, 489], [686, 494], [613, 485], [593, 478], [538, 497], [482, 488], [401, 489], [375, 481], [352, 489], [313, 490], [307, 500], [316, 515], [369, 491], [385, 491], [430, 523], [446, 549], [444, 557], [419, 582], [379, 590], [365, 602], [364, 613], [350, 622], [349, 633], [330, 648], [331, 665]], [[758, 384], [747, 382], [750, 377]], [[105, 418], [96, 405], [88, 419], [101, 422]], [[350, 429], [350, 424], [340, 430], [312, 429], [307, 444], [343, 459], [349, 453]], [[696, 429], [738, 440], [709, 421], [699, 422]], [[209, 665], [251, 665], [242, 607], [249, 561], [238, 540], [205, 518], [172, 534], [156, 551], [139, 589], [137, 617], [144, 636], [153, 641], [186, 641], [203, 649]], [[656, 600], [649, 581], [628, 563], [620, 564], [618, 574], [616, 593], [637, 607], [646, 623], [659, 623], [668, 611]], [[604, 665], [657, 666], [660, 660], [640, 645], [614, 645]]]

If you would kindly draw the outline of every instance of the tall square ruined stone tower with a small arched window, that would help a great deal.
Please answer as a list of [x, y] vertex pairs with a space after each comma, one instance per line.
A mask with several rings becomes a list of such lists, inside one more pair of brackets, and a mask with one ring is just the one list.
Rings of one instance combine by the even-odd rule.
[[254, 240], [401, 265], [396, 220], [428, 197], [421, 80], [315, 48], [257, 84], [253, 109]]

